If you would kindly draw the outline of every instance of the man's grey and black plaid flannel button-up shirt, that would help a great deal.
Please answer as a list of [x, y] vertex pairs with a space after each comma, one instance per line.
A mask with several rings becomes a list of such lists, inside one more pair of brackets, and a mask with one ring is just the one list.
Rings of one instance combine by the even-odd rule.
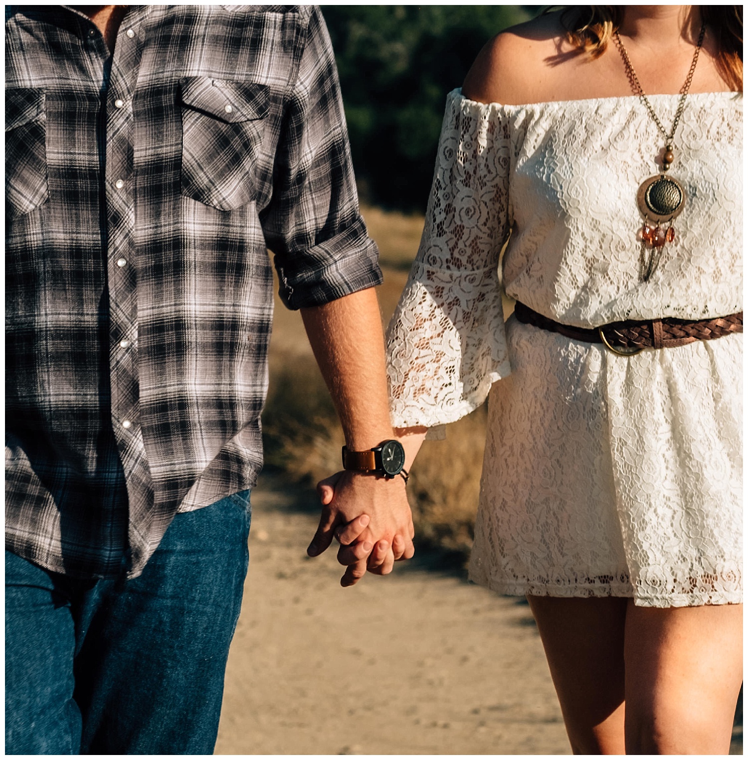
[[6, 546], [139, 575], [261, 468], [274, 252], [298, 309], [381, 281], [319, 8], [131, 6], [110, 55], [6, 8]]

